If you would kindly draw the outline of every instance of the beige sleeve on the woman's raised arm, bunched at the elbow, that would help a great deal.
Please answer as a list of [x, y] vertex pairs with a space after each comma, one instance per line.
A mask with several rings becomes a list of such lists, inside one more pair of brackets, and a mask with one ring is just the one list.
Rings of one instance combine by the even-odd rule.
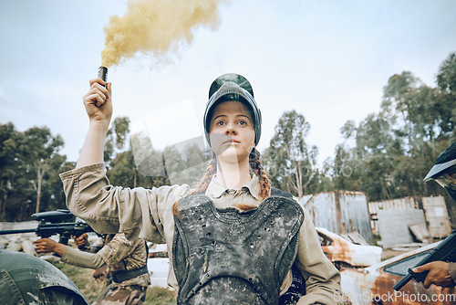
[[189, 189], [188, 185], [142, 187], [112, 186], [104, 163], [84, 166], [60, 174], [67, 207], [98, 233], [124, 233], [128, 239], [140, 234], [164, 243], [163, 214]]

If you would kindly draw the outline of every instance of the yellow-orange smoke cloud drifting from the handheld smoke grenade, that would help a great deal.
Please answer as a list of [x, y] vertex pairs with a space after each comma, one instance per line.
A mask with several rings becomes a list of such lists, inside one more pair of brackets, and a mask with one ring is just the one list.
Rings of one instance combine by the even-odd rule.
[[101, 65], [109, 68], [138, 52], [164, 58], [182, 42], [190, 44], [192, 30], [220, 25], [219, 5], [224, 0], [129, 0], [125, 16], [111, 16], [105, 26]]

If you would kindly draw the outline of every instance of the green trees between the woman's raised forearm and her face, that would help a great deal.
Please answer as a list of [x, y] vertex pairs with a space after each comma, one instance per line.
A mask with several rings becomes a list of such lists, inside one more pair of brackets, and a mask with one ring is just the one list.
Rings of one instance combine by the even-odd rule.
[[130, 131], [130, 120], [116, 119], [109, 130], [105, 147], [110, 151], [105, 152], [105, 162], [109, 163], [108, 176], [113, 185], [152, 188], [164, 184], [195, 184], [207, 166], [210, 154], [192, 141], [158, 152], [145, 133], [135, 132], [130, 136], [130, 147], [121, 151], [120, 148], [126, 146], [125, 132]]

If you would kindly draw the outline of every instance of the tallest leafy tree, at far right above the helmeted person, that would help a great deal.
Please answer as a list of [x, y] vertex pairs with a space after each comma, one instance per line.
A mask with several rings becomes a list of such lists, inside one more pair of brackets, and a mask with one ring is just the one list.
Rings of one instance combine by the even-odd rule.
[[[442, 69], [447, 72], [447, 69], [441, 67], [440, 73]], [[446, 76], [446, 79], [451, 79], [448, 74]], [[394, 142], [399, 144], [403, 151], [390, 153], [395, 158], [391, 173], [392, 181], [396, 185], [395, 197], [427, 193], [422, 177], [427, 174], [441, 152], [441, 142], [447, 144], [451, 138], [451, 116], [454, 112], [454, 103], [451, 103], [449, 98], [451, 90], [448, 83], [451, 81], [444, 82], [440, 76], [438, 79], [441, 89], [420, 84], [410, 72], [403, 72], [401, 76], [391, 77], [384, 88], [383, 100], [396, 100], [395, 117], [401, 118], [393, 132]], [[398, 83], [401, 86], [398, 86]]]

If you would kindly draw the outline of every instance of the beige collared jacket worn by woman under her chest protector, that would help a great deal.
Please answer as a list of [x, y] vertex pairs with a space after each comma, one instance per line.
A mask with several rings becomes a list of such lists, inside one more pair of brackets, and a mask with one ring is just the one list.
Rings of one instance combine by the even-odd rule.
[[[98, 233], [124, 233], [129, 239], [142, 237], [157, 244], [166, 243], [172, 253], [174, 218], [171, 207], [189, 192], [189, 186], [172, 185], [159, 188], [123, 188], [112, 186], [104, 163], [88, 165], [60, 174], [67, 195], [67, 207], [86, 220]], [[206, 195], [217, 208], [233, 203], [259, 205], [259, 184], [255, 177], [240, 190], [225, 190], [213, 180]], [[296, 265], [306, 279], [306, 296], [298, 304], [337, 304], [341, 300], [340, 274], [321, 250], [315, 226], [308, 213], [299, 231]], [[170, 266], [172, 266], [170, 258]], [[284, 293], [292, 281], [291, 272], [281, 286]], [[170, 268], [168, 284], [179, 289]]]

